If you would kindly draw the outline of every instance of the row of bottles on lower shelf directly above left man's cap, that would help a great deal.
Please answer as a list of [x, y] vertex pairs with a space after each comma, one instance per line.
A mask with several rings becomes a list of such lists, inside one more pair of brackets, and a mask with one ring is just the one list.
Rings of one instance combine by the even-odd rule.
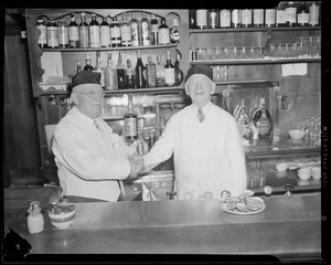
[[[167, 63], [157, 56], [153, 62], [152, 56], [148, 56], [148, 63], [145, 65], [141, 60], [141, 51], [137, 51], [137, 64], [134, 67], [131, 60], [127, 59], [127, 65], [124, 64], [120, 52], [118, 53], [117, 64], [113, 63], [111, 52], [107, 53], [107, 66], [102, 63], [100, 52], [96, 52], [96, 65], [90, 65], [90, 56], [86, 54], [86, 64], [83, 71], [93, 71], [100, 73], [102, 86], [107, 91], [129, 89], [129, 88], [150, 88], [150, 87], [171, 87], [180, 86], [183, 82], [183, 72], [180, 68], [182, 54], [177, 51], [174, 65], [171, 62], [170, 51], [167, 51]], [[78, 62], [77, 73], [82, 71]]]

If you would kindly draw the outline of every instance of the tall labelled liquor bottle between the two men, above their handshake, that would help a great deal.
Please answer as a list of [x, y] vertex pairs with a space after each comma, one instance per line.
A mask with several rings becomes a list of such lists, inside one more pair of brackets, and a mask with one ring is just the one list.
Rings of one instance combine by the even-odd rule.
[[128, 142], [138, 139], [138, 114], [134, 110], [132, 95], [129, 94], [128, 110], [124, 115], [124, 135]]

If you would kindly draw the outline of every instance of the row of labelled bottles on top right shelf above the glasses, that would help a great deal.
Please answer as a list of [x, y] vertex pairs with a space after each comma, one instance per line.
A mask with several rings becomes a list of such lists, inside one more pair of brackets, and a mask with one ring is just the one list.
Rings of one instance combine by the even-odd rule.
[[190, 29], [319, 25], [319, 2], [280, 2], [275, 9], [190, 10]]

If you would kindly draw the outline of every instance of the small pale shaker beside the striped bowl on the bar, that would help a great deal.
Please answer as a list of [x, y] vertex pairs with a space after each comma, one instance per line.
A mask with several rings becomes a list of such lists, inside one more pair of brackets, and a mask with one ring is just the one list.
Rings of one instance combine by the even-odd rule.
[[44, 216], [41, 213], [40, 202], [31, 202], [28, 212], [28, 229], [30, 234], [36, 234], [42, 232], [44, 230]]

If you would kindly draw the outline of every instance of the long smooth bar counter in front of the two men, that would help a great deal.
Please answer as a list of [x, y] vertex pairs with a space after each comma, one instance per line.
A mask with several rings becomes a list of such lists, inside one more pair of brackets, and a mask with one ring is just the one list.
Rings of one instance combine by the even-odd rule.
[[263, 199], [266, 209], [252, 215], [224, 212], [217, 200], [76, 203], [68, 229], [53, 227], [44, 214], [43, 232], [20, 234], [32, 245], [31, 254], [257, 254], [280, 261], [321, 259], [321, 195]]

